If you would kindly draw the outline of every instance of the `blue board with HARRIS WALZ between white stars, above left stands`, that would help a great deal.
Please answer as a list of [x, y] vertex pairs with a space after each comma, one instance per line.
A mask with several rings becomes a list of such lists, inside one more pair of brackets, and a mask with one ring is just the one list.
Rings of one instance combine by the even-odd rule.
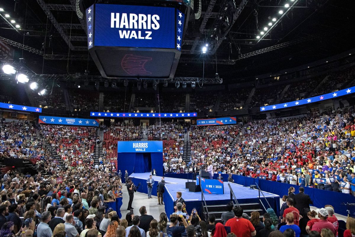
[[97, 119], [65, 118], [53, 116], [39, 116], [38, 123], [95, 127], [99, 126], [99, 120]]

